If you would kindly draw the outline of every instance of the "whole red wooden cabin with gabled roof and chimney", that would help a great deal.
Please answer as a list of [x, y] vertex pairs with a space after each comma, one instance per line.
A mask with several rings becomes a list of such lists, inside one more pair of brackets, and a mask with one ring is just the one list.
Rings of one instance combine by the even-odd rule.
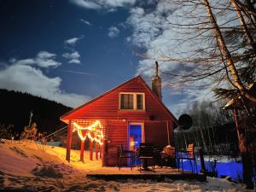
[[[154, 146], [164, 148], [173, 143], [173, 128], [177, 119], [161, 102], [160, 91], [157, 91], [160, 84], [155, 84], [160, 83], [159, 80], [156, 73], [154, 93], [142, 77], [137, 76], [62, 115], [61, 120], [69, 125], [67, 160], [70, 160], [73, 125], [88, 127], [96, 121], [101, 122], [96, 129], [103, 132], [103, 166], [116, 166], [116, 148], [120, 143], [125, 148], [135, 148], [139, 143], [154, 143]], [[81, 160], [83, 158], [84, 142], [81, 144]]]

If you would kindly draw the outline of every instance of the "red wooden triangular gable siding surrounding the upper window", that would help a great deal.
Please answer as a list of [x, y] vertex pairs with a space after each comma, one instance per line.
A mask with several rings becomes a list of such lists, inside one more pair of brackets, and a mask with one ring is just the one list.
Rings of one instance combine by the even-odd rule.
[[[119, 92], [143, 92], [145, 93], [145, 111], [121, 111], [119, 110]], [[154, 116], [155, 120], [176, 120], [162, 107], [151, 90], [145, 86], [141, 78], [131, 79], [118, 89], [110, 91], [107, 95], [99, 97], [94, 102], [84, 105], [83, 108], [69, 113], [62, 120], [66, 119], [126, 119], [126, 120], [148, 120]]]

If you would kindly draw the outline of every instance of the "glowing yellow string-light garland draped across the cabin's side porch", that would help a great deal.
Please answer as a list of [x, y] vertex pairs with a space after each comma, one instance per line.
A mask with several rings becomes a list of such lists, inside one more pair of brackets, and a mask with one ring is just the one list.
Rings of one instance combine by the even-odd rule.
[[[103, 140], [103, 132], [100, 130], [100, 131], [97, 131], [95, 130], [96, 127], [100, 127], [102, 128], [102, 124], [99, 120], [96, 120], [96, 122], [90, 126], [87, 126], [87, 127], [83, 127], [79, 124], [77, 124], [76, 122], [73, 122], [73, 125], [74, 125], [74, 129], [73, 129], [73, 132], [74, 131], [78, 131], [78, 134], [79, 134], [79, 137], [82, 141], [84, 141], [86, 139], [86, 137], [88, 137], [90, 139], [90, 142], [96, 142], [96, 143], [99, 143], [100, 145], [102, 145], [102, 140]], [[86, 131], [85, 133], [85, 136], [83, 136], [83, 130]], [[95, 136], [91, 136], [91, 132], [96, 132]]]

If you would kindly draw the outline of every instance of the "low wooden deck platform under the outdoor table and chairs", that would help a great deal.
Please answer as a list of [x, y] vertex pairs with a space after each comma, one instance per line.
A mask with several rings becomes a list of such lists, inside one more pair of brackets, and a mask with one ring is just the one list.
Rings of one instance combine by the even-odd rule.
[[202, 173], [192, 173], [184, 171], [177, 171], [175, 168], [156, 167], [153, 171], [140, 172], [137, 167], [132, 170], [130, 167], [102, 167], [100, 170], [91, 171], [86, 174], [87, 177], [104, 180], [117, 180], [117, 179], [154, 179], [157, 181], [164, 181], [166, 178], [173, 180], [197, 180], [206, 181], [207, 177]]

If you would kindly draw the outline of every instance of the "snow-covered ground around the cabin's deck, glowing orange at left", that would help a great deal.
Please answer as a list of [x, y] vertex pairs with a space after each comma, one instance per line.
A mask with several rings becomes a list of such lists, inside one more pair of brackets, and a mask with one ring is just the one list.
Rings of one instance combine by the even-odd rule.
[[[207, 182], [166, 179], [105, 181], [86, 177], [101, 169], [101, 160], [79, 161], [79, 151], [65, 160], [66, 148], [43, 146], [32, 141], [0, 143], [0, 190], [8, 191], [248, 191], [226, 179], [207, 177]], [[116, 170], [115, 170], [116, 169]], [[106, 168], [109, 173], [118, 168]], [[121, 172], [130, 172], [121, 169]]]

